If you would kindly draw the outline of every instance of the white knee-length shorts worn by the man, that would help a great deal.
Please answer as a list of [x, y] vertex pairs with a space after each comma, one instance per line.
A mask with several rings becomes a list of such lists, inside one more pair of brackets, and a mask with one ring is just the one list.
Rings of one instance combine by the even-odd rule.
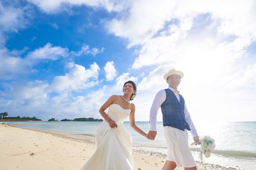
[[164, 138], [167, 143], [166, 160], [175, 162], [177, 167], [191, 168], [196, 166], [188, 146], [188, 133], [186, 129], [182, 131], [174, 127], [165, 126]]

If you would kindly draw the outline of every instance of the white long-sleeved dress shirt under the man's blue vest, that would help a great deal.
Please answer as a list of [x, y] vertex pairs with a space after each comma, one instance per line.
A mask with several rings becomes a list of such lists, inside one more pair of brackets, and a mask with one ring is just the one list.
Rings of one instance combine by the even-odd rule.
[[[174, 88], [168, 87], [168, 89], [175, 91]], [[178, 101], [180, 102], [180, 95], [178, 93], [174, 93]], [[159, 107], [162, 105], [162, 103], [166, 100], [166, 92], [165, 90], [160, 90], [152, 103], [151, 109], [150, 109], [150, 118], [149, 118], [149, 124], [150, 124], [150, 130], [151, 131], [156, 131], [156, 115], [158, 114]], [[188, 112], [188, 109], [186, 107], [186, 103], [184, 104], [184, 114], [185, 114], [185, 120], [188, 123], [191, 131], [192, 137], [198, 136], [196, 132], [196, 128], [194, 126], [194, 123], [190, 117], [190, 114]]]

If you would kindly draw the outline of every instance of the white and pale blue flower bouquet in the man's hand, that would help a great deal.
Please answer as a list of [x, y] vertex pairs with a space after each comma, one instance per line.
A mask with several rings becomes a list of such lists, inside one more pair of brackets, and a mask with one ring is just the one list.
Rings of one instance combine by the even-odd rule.
[[[204, 165], [203, 154], [206, 158], [209, 158], [211, 156], [211, 153], [214, 151], [216, 145], [214, 139], [210, 136], [199, 137], [199, 141], [201, 142], [199, 158]], [[196, 143], [192, 143], [191, 145], [196, 145]], [[204, 168], [206, 168], [205, 165]]]

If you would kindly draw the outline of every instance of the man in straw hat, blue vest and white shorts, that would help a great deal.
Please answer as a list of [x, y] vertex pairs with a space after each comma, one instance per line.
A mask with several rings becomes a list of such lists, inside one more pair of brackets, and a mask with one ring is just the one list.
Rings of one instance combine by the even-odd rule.
[[167, 156], [162, 170], [174, 170], [176, 166], [184, 166], [185, 170], [197, 170], [196, 162], [188, 146], [187, 130], [190, 131], [196, 144], [200, 144], [200, 141], [184, 98], [177, 91], [182, 77], [183, 73], [175, 69], [164, 74], [164, 80], [169, 87], [156, 94], [150, 109], [148, 139], [154, 140], [156, 137], [156, 115], [159, 107], [163, 114]]

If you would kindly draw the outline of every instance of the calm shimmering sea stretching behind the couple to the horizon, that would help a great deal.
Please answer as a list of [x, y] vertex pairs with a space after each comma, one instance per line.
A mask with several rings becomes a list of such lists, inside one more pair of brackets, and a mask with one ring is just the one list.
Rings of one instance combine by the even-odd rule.
[[[96, 127], [101, 122], [15, 121], [14, 123], [18, 127], [62, 134], [85, 135], [93, 138], [96, 134]], [[206, 163], [238, 170], [256, 170], [256, 122], [200, 122], [194, 124], [200, 137], [208, 135], [215, 140], [216, 148], [209, 158], [205, 158]], [[134, 149], [166, 154], [167, 147], [162, 122], [157, 123], [157, 136], [154, 141], [136, 133], [130, 127], [129, 122], [124, 122], [124, 125], [132, 136]], [[148, 122], [138, 121], [136, 125], [146, 133], [149, 130]], [[188, 143], [193, 143], [190, 133]], [[200, 146], [193, 145], [190, 146], [190, 149], [194, 159], [200, 161]]]

